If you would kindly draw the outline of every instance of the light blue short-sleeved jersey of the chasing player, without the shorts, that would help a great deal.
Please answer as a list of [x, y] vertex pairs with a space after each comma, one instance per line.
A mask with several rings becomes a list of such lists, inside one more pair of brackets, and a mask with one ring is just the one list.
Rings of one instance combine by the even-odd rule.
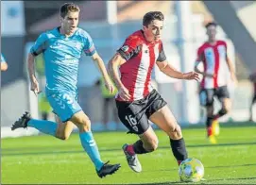
[[41, 34], [30, 53], [37, 56], [43, 52], [47, 89], [76, 92], [78, 61], [82, 51], [87, 56], [96, 52], [90, 35], [77, 28], [71, 37], [65, 37], [58, 27]]

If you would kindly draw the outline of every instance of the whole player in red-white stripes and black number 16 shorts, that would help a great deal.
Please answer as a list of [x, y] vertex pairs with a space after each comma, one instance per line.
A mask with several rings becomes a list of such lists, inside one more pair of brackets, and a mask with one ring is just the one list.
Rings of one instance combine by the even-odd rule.
[[156, 63], [166, 76], [190, 80], [197, 79], [198, 75], [195, 72], [180, 73], [167, 62], [161, 40], [163, 20], [161, 11], [147, 12], [143, 18], [143, 29], [128, 36], [108, 65], [118, 89], [118, 116], [127, 126], [128, 133], [139, 136], [136, 143], [123, 145], [128, 165], [135, 172], [142, 171], [137, 154], [153, 152], [158, 147], [158, 138], [148, 120], [169, 136], [178, 163], [187, 159], [181, 128], [167, 103], [152, 88], [151, 72]]

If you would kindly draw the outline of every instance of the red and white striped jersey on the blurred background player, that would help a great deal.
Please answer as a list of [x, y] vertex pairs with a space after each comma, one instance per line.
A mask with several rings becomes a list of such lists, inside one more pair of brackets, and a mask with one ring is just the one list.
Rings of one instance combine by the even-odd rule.
[[196, 61], [203, 62], [204, 73], [215, 75], [203, 76], [201, 88], [215, 89], [228, 84], [230, 71], [227, 59], [227, 43], [224, 41], [217, 41], [214, 45], [205, 42], [198, 48]]

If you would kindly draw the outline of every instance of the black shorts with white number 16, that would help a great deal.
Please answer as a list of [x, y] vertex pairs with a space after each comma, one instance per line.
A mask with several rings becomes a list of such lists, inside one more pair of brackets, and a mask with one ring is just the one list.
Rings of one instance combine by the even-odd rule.
[[149, 127], [148, 118], [166, 104], [156, 90], [133, 102], [116, 100], [119, 119], [128, 128], [128, 133], [134, 134], [143, 134]]

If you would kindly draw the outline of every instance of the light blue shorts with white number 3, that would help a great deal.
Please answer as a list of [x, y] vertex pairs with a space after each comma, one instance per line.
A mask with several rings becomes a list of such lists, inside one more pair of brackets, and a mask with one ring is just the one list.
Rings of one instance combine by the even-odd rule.
[[63, 123], [81, 110], [77, 102], [77, 93], [46, 91], [46, 97], [53, 108], [53, 112], [60, 117]]

